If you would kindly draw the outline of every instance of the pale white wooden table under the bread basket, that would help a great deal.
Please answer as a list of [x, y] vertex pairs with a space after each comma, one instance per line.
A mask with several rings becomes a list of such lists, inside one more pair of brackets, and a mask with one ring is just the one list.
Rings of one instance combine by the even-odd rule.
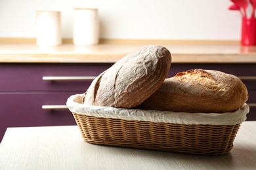
[[11, 127], [0, 169], [256, 169], [256, 122], [243, 122], [223, 156], [196, 156], [85, 142], [77, 126]]

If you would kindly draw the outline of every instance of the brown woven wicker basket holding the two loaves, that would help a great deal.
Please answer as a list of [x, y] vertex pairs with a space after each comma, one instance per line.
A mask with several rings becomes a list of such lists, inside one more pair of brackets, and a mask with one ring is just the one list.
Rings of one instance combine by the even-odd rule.
[[[77, 99], [77, 95], [74, 95], [68, 100], [77, 102], [79, 99], [81, 96]], [[240, 124], [246, 118], [234, 125], [173, 124], [127, 120], [127, 116], [125, 119], [98, 114], [92, 116], [75, 112], [75, 108], [80, 107], [81, 110], [84, 105], [70, 105], [69, 102], [67, 105], [74, 114], [83, 139], [89, 143], [186, 154], [226, 154], [232, 149]], [[244, 107], [242, 113], [246, 115], [249, 107], [246, 104]]]

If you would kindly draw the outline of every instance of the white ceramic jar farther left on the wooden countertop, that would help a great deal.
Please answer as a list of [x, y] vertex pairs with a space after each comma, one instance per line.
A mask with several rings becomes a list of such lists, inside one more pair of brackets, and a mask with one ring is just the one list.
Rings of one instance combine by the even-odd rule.
[[36, 19], [38, 46], [62, 44], [60, 11], [38, 10]]

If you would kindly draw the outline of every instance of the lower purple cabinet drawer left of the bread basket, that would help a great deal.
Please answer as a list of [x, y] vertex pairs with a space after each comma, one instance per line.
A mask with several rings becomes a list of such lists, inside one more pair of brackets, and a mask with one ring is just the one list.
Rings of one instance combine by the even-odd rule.
[[42, 109], [42, 105], [66, 105], [75, 93], [83, 92], [0, 93], [0, 141], [7, 127], [75, 125], [68, 109]]

